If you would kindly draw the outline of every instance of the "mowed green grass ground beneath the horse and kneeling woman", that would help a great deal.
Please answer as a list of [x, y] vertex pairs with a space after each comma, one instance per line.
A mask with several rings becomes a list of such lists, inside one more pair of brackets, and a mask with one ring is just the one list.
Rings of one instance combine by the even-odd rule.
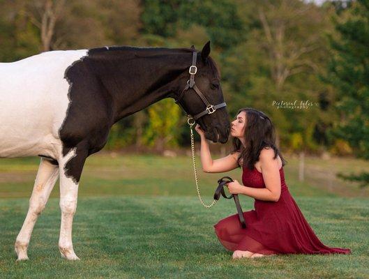
[[[190, 157], [101, 153], [87, 160], [80, 181], [73, 244], [81, 260], [68, 262], [59, 254], [57, 183], [33, 230], [30, 260], [15, 262], [13, 245], [39, 159], [1, 159], [0, 278], [369, 278], [368, 192], [333, 175], [369, 164], [308, 158], [306, 181], [300, 182], [297, 160], [287, 160], [287, 186], [312, 229], [327, 246], [351, 248], [352, 255], [232, 260], [213, 225], [236, 213], [234, 202], [221, 199], [211, 209], [199, 203]], [[241, 182], [241, 169], [204, 174], [199, 158], [197, 167], [206, 203], [220, 177]], [[252, 198], [240, 198], [243, 211], [253, 209]]]

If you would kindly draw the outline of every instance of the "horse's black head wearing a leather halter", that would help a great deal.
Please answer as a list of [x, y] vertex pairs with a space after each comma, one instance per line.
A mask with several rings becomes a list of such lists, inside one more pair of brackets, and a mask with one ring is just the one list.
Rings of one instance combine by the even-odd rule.
[[201, 126], [206, 139], [225, 144], [229, 137], [229, 116], [220, 86], [220, 73], [209, 54], [210, 41], [201, 52], [193, 49], [193, 61], [188, 61], [189, 70], [181, 75], [183, 90], [176, 103]]

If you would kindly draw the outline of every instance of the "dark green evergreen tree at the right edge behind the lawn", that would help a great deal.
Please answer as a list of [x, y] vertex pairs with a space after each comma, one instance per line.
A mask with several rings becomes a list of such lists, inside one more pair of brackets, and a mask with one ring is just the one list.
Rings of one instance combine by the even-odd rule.
[[[330, 36], [326, 82], [336, 88], [340, 119], [331, 135], [346, 140], [356, 156], [369, 160], [369, 1], [354, 1], [334, 22], [338, 35]], [[340, 176], [369, 185], [365, 173]]]

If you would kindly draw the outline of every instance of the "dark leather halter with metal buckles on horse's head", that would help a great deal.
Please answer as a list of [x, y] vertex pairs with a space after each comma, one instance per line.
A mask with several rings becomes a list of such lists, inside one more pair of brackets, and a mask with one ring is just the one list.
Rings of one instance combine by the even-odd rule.
[[199, 114], [196, 114], [195, 116], [191, 116], [190, 114], [188, 114], [186, 112], [186, 114], [190, 117], [192, 117], [193, 119], [197, 120], [199, 119], [201, 116], [204, 116], [205, 114], [212, 114], [213, 112], [215, 112], [216, 110], [220, 109], [220, 107], [225, 107], [226, 103], [220, 103], [218, 105], [211, 105], [209, 103], [209, 101], [205, 98], [204, 94], [199, 90], [199, 88], [196, 86], [195, 84], [195, 74], [197, 73], [197, 67], [196, 67], [196, 59], [197, 59], [197, 52], [195, 52], [195, 47], [191, 47], [194, 51], [193, 51], [193, 64], [192, 66], [190, 66], [190, 69], [188, 70], [188, 73], [190, 73], [190, 80], [188, 80], [185, 88], [181, 91], [181, 94], [179, 95], [179, 98], [174, 100], [174, 102], [176, 104], [178, 104], [182, 110], [184, 112], [186, 112], [186, 110], [182, 107], [181, 103], [179, 103], [182, 98], [184, 93], [186, 93], [186, 91], [188, 89], [193, 89], [195, 90], [195, 92], [197, 93], [197, 95], [202, 99], [202, 101], [205, 103], [206, 105], [206, 109], [202, 112], [200, 112]]

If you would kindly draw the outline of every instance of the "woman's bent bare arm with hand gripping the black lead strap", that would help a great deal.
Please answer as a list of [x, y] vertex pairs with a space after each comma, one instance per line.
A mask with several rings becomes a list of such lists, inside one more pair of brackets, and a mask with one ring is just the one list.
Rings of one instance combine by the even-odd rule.
[[263, 149], [260, 152], [259, 160], [266, 188], [260, 189], [245, 186], [242, 188], [241, 194], [254, 197], [255, 199], [278, 202], [281, 190], [280, 173], [278, 160], [277, 158], [273, 159], [273, 157], [273, 149]]

